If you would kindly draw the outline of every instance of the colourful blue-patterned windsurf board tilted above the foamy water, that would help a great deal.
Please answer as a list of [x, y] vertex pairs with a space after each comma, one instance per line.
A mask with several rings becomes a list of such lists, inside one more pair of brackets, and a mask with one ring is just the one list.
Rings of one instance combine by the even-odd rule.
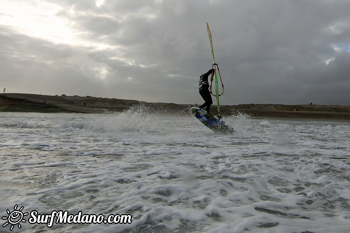
[[204, 109], [192, 107], [191, 111], [200, 122], [202, 122], [205, 126], [207, 126], [209, 129], [213, 131], [216, 131], [216, 132], [222, 132], [222, 131], [234, 132], [235, 131], [231, 126], [227, 125], [224, 121], [210, 114]]

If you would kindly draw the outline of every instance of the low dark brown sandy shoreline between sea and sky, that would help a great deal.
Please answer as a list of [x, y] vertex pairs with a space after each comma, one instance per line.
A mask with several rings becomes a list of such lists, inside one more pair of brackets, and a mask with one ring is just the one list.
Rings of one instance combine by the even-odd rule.
[[[76, 112], [102, 114], [121, 112], [134, 105], [167, 114], [190, 114], [193, 104], [148, 103], [138, 100], [109, 99], [92, 96], [49, 96], [22, 93], [0, 93], [2, 112]], [[243, 112], [254, 118], [322, 119], [350, 121], [350, 106], [340, 105], [283, 105], [283, 104], [238, 104], [222, 105], [221, 114], [231, 116]], [[217, 114], [212, 105], [211, 113]]]

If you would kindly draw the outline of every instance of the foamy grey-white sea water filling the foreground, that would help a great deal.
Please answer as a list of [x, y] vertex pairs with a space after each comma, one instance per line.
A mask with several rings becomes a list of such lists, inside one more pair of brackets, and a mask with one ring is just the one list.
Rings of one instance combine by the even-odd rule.
[[[0, 232], [350, 231], [349, 122], [225, 121], [235, 133], [142, 108], [0, 113]], [[49, 227], [34, 210], [132, 219]]]

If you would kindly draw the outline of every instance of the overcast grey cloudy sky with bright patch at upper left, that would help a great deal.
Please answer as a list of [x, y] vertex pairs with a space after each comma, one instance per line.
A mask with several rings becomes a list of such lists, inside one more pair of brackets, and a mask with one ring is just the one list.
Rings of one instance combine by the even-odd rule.
[[[0, 0], [1, 91], [350, 105], [349, 0]], [[214, 104], [215, 98], [213, 97]]]

